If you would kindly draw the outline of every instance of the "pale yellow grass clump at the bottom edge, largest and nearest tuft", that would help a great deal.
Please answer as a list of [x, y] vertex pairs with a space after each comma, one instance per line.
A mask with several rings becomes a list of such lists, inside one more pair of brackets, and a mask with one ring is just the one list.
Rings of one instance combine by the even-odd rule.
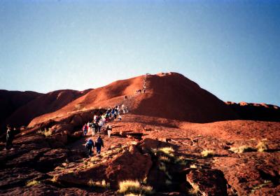
[[119, 183], [120, 189], [118, 193], [122, 194], [144, 194], [144, 195], [151, 195], [153, 194], [153, 188], [151, 186], [143, 186], [139, 183], [139, 181], [121, 181]]

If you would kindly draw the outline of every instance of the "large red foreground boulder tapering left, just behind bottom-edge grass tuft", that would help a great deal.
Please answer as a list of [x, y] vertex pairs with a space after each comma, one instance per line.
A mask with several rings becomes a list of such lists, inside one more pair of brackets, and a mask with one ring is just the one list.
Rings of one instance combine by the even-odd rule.
[[125, 151], [108, 162], [101, 162], [99, 165], [78, 172], [63, 172], [55, 176], [59, 183], [71, 185], [87, 185], [92, 181], [106, 180], [111, 188], [118, 189], [118, 183], [124, 180], [143, 180], [148, 176], [151, 169], [151, 156], [141, 154], [134, 147], [133, 151]]

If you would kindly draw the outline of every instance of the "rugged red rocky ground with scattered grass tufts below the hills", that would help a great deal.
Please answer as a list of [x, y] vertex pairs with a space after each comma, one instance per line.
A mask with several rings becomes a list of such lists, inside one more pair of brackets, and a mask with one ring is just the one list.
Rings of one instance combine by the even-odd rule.
[[[88, 158], [80, 127], [86, 113], [15, 137], [0, 151], [1, 195], [280, 195], [280, 123], [231, 120], [184, 123], [125, 115], [101, 155]], [[45, 125], [47, 125], [45, 124]], [[44, 125], [40, 125], [41, 129]], [[153, 188], [148, 191], [147, 188]]]

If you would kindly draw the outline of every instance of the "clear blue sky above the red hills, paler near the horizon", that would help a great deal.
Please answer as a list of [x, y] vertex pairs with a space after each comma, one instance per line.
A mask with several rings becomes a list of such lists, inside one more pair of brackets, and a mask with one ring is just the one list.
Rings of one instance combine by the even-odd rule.
[[0, 89], [168, 71], [224, 101], [280, 105], [280, 1], [0, 1]]

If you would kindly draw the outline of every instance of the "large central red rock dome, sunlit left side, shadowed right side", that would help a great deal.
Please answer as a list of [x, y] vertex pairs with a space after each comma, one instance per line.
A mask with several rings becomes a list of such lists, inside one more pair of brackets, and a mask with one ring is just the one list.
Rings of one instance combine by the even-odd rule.
[[[146, 93], [136, 91], [144, 86]], [[127, 99], [124, 97], [127, 96]], [[87, 94], [53, 113], [38, 116], [29, 125], [53, 118], [66, 118], [79, 109], [90, 110], [125, 104], [134, 114], [209, 123], [237, 119], [223, 101], [179, 73], [138, 76], [90, 90]]]

